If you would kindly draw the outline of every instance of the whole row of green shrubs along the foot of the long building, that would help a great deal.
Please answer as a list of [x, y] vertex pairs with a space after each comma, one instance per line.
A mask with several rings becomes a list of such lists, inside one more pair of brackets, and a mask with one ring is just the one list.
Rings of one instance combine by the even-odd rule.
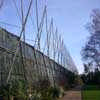
[[10, 97], [14, 97], [16, 100], [27, 100], [29, 98], [33, 100], [56, 100], [63, 94], [61, 88], [51, 87], [50, 82], [45, 79], [39, 80], [33, 86], [26, 84], [25, 81], [14, 80], [11, 84], [0, 87], [0, 96], [8, 98], [6, 100], [9, 100]]

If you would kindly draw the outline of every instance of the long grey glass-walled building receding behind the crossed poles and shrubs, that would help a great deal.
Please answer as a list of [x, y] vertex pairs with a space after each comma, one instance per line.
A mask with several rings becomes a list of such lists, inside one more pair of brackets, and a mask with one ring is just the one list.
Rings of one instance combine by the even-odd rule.
[[[10, 71], [9, 81], [26, 79], [28, 82], [34, 83], [39, 79], [49, 79], [51, 84], [58, 85], [67, 82], [71, 71], [36, 50], [33, 46], [18, 41], [18, 36], [5, 29], [0, 29], [0, 84], [6, 84]], [[16, 50], [18, 50], [17, 53]]]

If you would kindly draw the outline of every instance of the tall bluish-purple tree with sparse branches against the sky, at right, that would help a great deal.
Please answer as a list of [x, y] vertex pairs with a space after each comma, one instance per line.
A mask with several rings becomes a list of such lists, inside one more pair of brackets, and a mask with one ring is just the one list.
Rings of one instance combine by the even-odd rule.
[[82, 48], [83, 60], [100, 67], [100, 10], [94, 9], [89, 24], [90, 37]]

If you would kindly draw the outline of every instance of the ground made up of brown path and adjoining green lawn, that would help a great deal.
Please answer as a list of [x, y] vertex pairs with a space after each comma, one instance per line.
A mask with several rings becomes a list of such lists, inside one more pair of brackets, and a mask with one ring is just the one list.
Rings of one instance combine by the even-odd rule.
[[73, 89], [65, 92], [60, 100], [100, 100], [100, 86], [87, 85], [81, 89]]

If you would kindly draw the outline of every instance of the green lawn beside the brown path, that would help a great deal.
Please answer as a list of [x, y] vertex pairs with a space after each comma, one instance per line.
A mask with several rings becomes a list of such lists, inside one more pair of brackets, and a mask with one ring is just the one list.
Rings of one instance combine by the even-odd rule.
[[88, 85], [82, 91], [83, 100], [100, 100], [100, 87]]

